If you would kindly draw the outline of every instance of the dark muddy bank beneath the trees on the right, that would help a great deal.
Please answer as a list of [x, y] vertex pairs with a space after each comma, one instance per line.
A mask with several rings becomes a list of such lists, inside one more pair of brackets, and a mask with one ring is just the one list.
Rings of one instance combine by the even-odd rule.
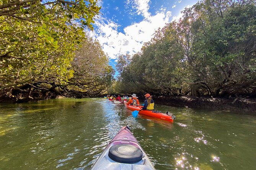
[[156, 104], [164, 104], [173, 107], [244, 111], [256, 115], [256, 99], [197, 98], [184, 96], [154, 96], [153, 99]]

